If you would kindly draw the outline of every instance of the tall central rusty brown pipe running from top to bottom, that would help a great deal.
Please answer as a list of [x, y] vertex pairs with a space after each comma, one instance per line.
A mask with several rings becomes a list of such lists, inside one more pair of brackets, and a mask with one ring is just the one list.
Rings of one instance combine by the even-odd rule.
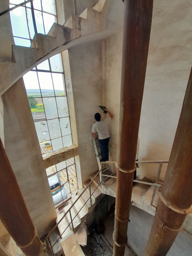
[[123, 256], [131, 205], [133, 172], [147, 66], [153, 0], [124, 0], [119, 153], [113, 255]]

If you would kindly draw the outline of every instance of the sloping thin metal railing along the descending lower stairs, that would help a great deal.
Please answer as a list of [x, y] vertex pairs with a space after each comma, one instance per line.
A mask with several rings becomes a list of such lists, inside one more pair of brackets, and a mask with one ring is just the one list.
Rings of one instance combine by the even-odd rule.
[[[49, 232], [49, 234], [45, 237], [45, 240], [47, 242], [47, 244], [50, 247], [50, 250], [52, 252], [52, 255], [54, 256], [54, 252], [53, 252], [53, 246], [60, 240], [61, 236], [63, 235], [63, 233], [68, 229], [68, 227], [71, 225], [72, 226], [72, 230], [74, 229], [74, 225], [73, 225], [73, 221], [74, 219], [77, 217], [77, 215], [79, 214], [79, 212], [83, 209], [83, 207], [87, 204], [87, 202], [90, 200], [90, 206], [92, 208], [92, 200], [91, 200], [91, 196], [93, 195], [93, 193], [96, 191], [96, 189], [99, 187], [99, 185], [101, 185], [101, 182], [98, 184], [98, 186], [95, 188], [95, 190], [91, 193], [91, 183], [95, 180], [95, 178], [99, 175], [99, 173], [101, 172], [101, 170], [99, 170], [97, 172], [97, 174], [94, 176], [93, 180], [91, 180], [89, 182], [89, 184], [87, 185], [86, 188], [84, 188], [84, 190], [82, 191], [82, 193], [80, 193], [79, 197], [75, 200], [75, 202], [71, 205], [71, 207], [64, 213], [63, 217], [60, 219], [59, 222], [57, 222], [57, 224], [53, 227], [53, 229]], [[72, 218], [71, 215], [71, 209], [74, 207], [74, 205], [78, 202], [78, 200], [80, 200], [80, 198], [82, 197], [83, 193], [89, 188], [89, 198], [86, 200], [86, 202], [84, 202], [83, 206], [80, 208], [80, 210], [75, 214], [75, 217]], [[87, 207], [88, 208], [88, 207]], [[88, 210], [89, 211], [89, 210]], [[67, 214], [69, 213], [71, 222], [69, 222], [68, 226], [64, 229], [64, 231], [61, 233], [61, 235], [59, 236], [59, 238], [57, 238], [57, 240], [54, 242], [54, 244], [51, 244], [49, 237], [52, 234], [52, 232], [56, 229], [56, 227], [61, 223], [61, 221], [65, 218], [65, 216], [67, 216]]]

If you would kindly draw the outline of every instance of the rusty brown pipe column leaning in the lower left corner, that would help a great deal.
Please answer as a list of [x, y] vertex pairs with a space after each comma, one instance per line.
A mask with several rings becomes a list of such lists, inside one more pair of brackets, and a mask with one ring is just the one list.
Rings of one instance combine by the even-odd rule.
[[0, 219], [25, 255], [42, 255], [42, 242], [37, 236], [35, 227], [27, 211], [1, 139], [0, 163]]

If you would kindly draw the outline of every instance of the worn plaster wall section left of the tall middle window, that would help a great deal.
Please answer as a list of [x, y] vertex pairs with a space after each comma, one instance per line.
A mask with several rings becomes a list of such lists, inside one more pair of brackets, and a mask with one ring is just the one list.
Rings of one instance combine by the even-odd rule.
[[41, 237], [56, 218], [56, 211], [23, 79], [18, 80], [2, 98], [5, 151], [30, 217]]

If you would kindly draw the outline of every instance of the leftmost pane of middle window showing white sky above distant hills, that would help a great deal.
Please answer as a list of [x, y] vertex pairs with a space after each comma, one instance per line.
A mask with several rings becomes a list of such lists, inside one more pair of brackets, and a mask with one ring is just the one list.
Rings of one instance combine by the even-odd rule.
[[41, 97], [37, 72], [29, 71], [23, 76], [28, 97]]

